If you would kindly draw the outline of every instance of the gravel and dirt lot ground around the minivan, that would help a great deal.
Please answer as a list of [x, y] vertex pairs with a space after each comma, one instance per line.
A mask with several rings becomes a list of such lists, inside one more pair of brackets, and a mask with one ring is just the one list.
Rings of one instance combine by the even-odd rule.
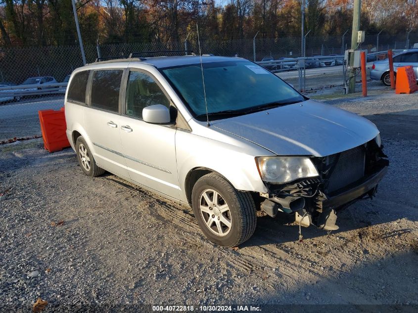
[[39, 139], [1, 145], [0, 311], [42, 297], [49, 312], [128, 304], [402, 304], [414, 312], [418, 94], [328, 103], [371, 119], [391, 164], [372, 201], [338, 212], [331, 234], [303, 228], [303, 243], [285, 217], [260, 216], [248, 242], [221, 248], [189, 208], [110, 174], [86, 177], [71, 149], [49, 154]]

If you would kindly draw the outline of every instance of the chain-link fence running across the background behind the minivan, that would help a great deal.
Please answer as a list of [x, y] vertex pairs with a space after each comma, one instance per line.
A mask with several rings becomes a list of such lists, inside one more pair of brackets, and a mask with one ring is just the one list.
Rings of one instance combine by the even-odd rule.
[[[299, 90], [303, 85], [296, 60], [285, 62], [285, 59], [305, 54], [310, 62], [305, 64], [304, 86], [306, 91], [310, 91], [343, 85], [341, 54], [350, 42], [349, 33], [344, 37], [326, 39], [310, 37], [308, 34], [305, 51], [302, 51], [300, 37], [202, 40], [200, 47], [202, 54], [239, 56], [261, 62]], [[366, 36], [360, 48], [374, 52], [389, 48], [403, 49], [415, 43], [418, 43], [418, 33], [396, 37], [381, 33], [379, 36]], [[160, 42], [87, 45], [85, 54], [87, 62], [92, 63], [98, 57], [127, 57], [132, 52], [185, 49], [198, 54], [196, 38], [190, 36], [186, 42], [170, 45]], [[368, 61], [373, 61], [373, 58], [375, 56], [368, 58]], [[269, 64], [266, 62], [269, 60], [276, 63]], [[38, 110], [56, 110], [63, 106], [66, 82], [71, 72], [80, 66], [83, 66], [83, 61], [79, 45], [0, 48], [0, 141], [40, 135]]]

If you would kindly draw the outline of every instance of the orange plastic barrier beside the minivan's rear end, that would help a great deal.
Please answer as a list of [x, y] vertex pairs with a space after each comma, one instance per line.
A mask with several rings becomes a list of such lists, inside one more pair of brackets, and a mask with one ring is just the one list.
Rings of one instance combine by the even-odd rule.
[[38, 113], [45, 149], [55, 152], [69, 147], [70, 143], [65, 133], [67, 123], [65, 123], [64, 108], [59, 111], [43, 110]]

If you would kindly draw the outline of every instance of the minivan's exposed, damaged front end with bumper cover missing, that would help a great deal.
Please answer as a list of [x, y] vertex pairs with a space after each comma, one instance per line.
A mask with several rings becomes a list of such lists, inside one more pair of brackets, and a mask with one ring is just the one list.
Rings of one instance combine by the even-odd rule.
[[306, 227], [314, 224], [325, 230], [338, 229], [335, 209], [372, 197], [389, 165], [374, 140], [332, 156], [313, 158], [313, 162], [320, 173], [318, 178], [269, 185], [261, 210], [272, 217], [279, 211], [295, 214], [296, 222]]

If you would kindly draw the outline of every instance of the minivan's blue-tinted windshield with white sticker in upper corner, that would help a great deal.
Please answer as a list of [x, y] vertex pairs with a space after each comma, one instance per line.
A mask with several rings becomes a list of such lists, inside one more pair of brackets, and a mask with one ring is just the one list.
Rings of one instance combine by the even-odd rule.
[[[200, 63], [162, 69], [192, 112], [206, 115]], [[247, 60], [203, 63], [209, 114], [253, 111], [305, 98], [273, 73]], [[202, 119], [203, 120], [203, 119]]]

